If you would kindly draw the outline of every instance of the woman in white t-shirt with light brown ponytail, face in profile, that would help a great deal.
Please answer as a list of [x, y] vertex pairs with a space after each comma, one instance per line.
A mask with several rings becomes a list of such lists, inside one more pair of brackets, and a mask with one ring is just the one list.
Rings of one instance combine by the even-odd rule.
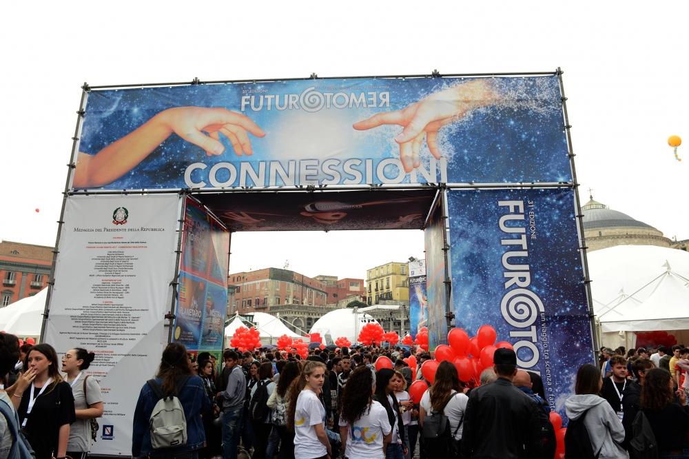
[[327, 459], [331, 456], [330, 441], [325, 433], [325, 407], [318, 395], [325, 382], [324, 363], [309, 360], [300, 378], [292, 383], [287, 427], [294, 430], [295, 459]]

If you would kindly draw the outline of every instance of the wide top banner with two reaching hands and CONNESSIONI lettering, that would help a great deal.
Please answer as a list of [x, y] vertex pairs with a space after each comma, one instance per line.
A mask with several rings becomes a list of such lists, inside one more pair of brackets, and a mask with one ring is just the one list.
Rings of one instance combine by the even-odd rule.
[[72, 187], [570, 182], [557, 76], [92, 90]]

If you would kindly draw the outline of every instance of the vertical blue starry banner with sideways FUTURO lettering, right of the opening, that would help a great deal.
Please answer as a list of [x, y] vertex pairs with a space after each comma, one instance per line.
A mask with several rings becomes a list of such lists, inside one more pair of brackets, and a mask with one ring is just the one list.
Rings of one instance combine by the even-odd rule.
[[483, 324], [538, 372], [564, 417], [577, 369], [593, 363], [574, 192], [449, 191], [455, 324]]

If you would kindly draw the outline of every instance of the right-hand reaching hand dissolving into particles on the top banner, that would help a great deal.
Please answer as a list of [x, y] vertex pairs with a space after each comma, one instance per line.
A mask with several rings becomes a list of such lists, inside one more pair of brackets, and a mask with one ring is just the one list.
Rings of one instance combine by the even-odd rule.
[[496, 101], [491, 83], [473, 80], [435, 92], [421, 101], [407, 105], [402, 110], [382, 112], [354, 123], [356, 130], [369, 130], [380, 125], [400, 125], [402, 132], [395, 136], [400, 144], [400, 161], [404, 172], [411, 172], [421, 165], [421, 145], [426, 138], [435, 159], [442, 156], [438, 148], [438, 131], [444, 125], [462, 119], [467, 113]]

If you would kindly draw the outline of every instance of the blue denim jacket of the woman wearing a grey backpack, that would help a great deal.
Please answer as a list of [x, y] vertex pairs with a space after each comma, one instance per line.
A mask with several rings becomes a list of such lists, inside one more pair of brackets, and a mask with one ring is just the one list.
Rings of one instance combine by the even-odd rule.
[[[163, 380], [156, 378], [156, 383], [162, 384]], [[203, 380], [198, 376], [189, 378], [178, 394], [178, 398], [184, 408], [184, 416], [187, 418], [187, 444], [176, 448], [174, 451], [183, 452], [199, 449], [203, 447], [203, 442], [206, 440], [201, 414], [212, 407], [210, 399], [206, 396]], [[152, 453], [149, 420], [157, 402], [156, 394], [153, 393], [148, 384], [144, 384], [141, 393], [138, 394], [138, 401], [134, 410], [132, 456], [135, 458]]]

